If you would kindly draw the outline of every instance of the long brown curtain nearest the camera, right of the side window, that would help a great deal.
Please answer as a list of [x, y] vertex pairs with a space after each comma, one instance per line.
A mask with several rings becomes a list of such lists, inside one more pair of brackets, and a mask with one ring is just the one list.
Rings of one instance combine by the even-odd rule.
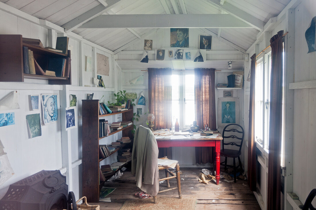
[[270, 39], [270, 122], [267, 209], [281, 209], [281, 134], [283, 85], [283, 31]]

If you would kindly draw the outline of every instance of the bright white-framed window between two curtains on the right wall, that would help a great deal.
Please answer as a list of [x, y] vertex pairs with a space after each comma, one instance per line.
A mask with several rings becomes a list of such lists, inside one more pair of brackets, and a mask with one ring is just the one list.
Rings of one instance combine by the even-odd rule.
[[255, 138], [269, 148], [271, 51], [257, 58], [255, 82]]

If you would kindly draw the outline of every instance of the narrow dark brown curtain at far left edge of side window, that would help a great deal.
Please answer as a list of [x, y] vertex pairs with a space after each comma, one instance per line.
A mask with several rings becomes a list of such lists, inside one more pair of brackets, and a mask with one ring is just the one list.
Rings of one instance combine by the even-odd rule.
[[249, 125], [248, 125], [248, 185], [251, 191], [257, 190], [257, 160], [255, 144], [255, 78], [256, 54], [251, 56], [250, 67], [250, 97], [249, 97]]

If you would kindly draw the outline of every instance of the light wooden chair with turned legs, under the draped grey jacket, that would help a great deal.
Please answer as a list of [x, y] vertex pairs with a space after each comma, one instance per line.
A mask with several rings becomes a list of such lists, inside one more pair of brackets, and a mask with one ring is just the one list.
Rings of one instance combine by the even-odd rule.
[[[168, 158], [167, 158], [167, 156], [165, 156], [165, 157], [160, 158], [160, 159], [168, 159]], [[179, 199], [181, 199], [182, 195], [181, 195], [181, 186], [180, 186], [180, 166], [179, 166], [179, 163], [177, 163], [177, 165], [176, 165], [176, 174], [174, 174], [173, 172], [169, 171], [169, 166], [158, 166], [158, 169], [159, 169], [159, 171], [160, 170], [165, 170], [166, 178], [159, 179], [159, 182], [163, 181], [163, 180], [167, 180], [167, 188], [170, 187], [169, 179], [172, 179], [172, 178], [176, 178], [177, 179], [177, 187], [173, 187], [173, 188], [170, 188], [170, 189], [167, 189], [167, 190], [161, 190], [158, 193], [167, 192], [169, 190], [178, 189]], [[169, 174], [171, 175], [171, 177], [169, 177]], [[154, 196], [154, 203], [157, 203], [157, 195]]]

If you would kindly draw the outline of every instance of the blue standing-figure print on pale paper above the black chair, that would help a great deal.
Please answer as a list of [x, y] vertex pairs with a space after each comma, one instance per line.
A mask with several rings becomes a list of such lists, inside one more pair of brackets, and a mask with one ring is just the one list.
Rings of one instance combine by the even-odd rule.
[[230, 123], [239, 124], [239, 98], [218, 98], [217, 112], [217, 125], [219, 128], [224, 128]]

